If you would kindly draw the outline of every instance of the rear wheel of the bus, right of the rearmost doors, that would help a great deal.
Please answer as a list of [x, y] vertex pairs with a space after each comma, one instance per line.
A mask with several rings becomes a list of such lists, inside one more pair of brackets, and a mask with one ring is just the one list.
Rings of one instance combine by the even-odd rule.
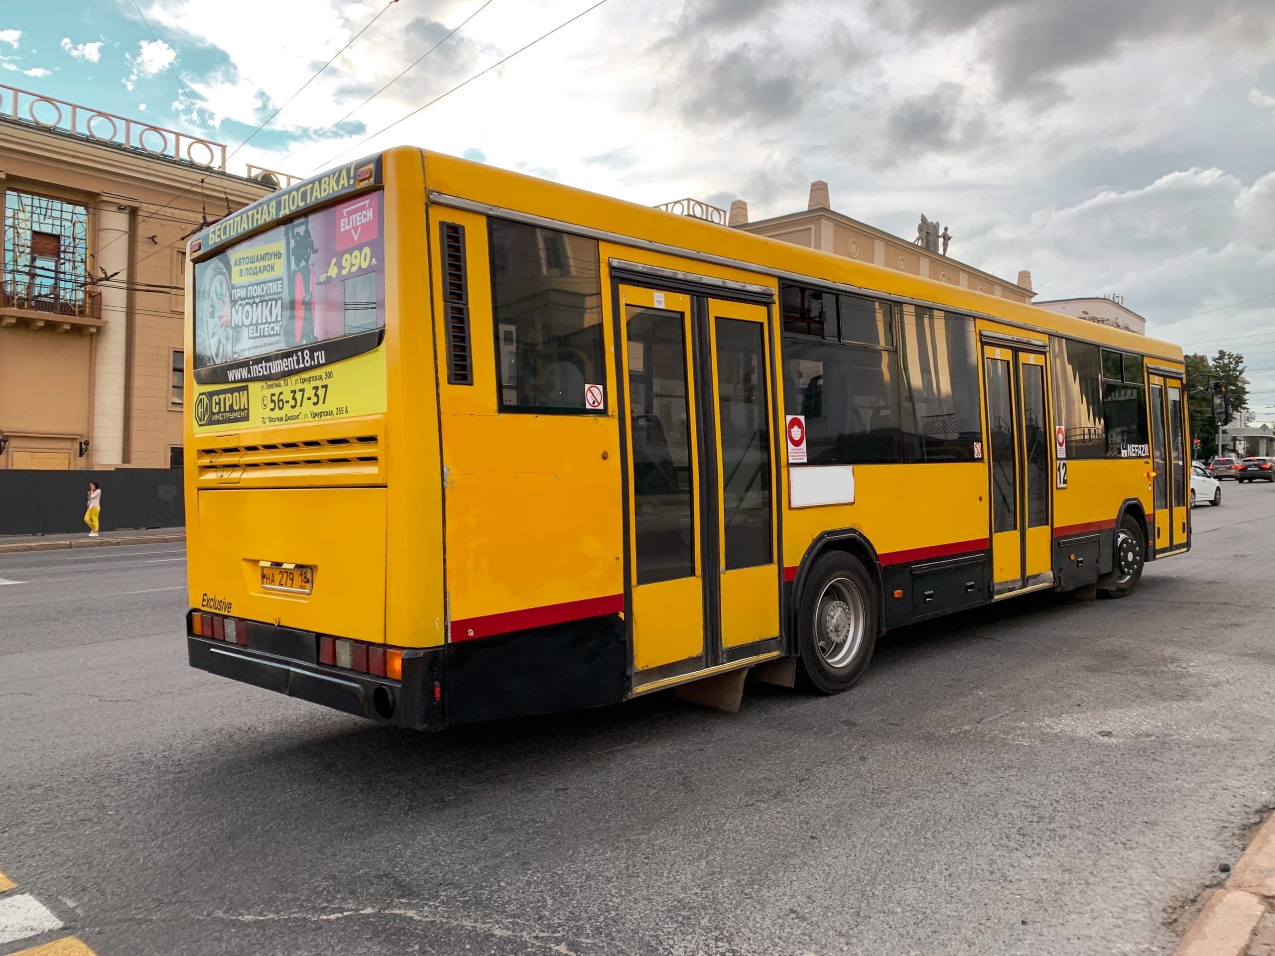
[[857, 558], [831, 551], [810, 570], [797, 625], [799, 684], [840, 693], [867, 670], [877, 636], [876, 589]]

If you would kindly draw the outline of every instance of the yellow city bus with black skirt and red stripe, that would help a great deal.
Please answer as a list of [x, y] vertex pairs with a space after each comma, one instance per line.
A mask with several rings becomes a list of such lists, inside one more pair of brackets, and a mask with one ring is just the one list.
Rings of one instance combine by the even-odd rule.
[[1177, 345], [397, 148], [189, 247], [191, 665], [441, 727], [1187, 551]]

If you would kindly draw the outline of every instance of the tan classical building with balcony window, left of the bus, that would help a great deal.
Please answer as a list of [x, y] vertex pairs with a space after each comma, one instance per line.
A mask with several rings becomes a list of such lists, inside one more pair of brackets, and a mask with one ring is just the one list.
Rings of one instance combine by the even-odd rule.
[[180, 464], [185, 238], [277, 185], [226, 152], [0, 84], [0, 468]]

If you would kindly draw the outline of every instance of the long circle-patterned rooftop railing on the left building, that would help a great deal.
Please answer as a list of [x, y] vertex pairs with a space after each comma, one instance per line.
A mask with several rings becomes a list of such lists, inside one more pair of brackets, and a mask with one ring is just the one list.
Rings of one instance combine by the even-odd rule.
[[0, 116], [226, 172], [226, 144], [0, 83]]

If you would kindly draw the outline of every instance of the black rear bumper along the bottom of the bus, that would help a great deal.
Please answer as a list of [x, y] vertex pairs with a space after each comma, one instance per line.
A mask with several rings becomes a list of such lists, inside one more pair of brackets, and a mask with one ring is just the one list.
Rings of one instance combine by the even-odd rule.
[[190, 665], [200, 670], [381, 724], [428, 727], [439, 723], [437, 715], [430, 719], [425, 706], [421, 692], [425, 674], [421, 672], [426, 662], [419, 655], [408, 658], [404, 654], [403, 681], [390, 681], [204, 637], [187, 636], [186, 650]]

